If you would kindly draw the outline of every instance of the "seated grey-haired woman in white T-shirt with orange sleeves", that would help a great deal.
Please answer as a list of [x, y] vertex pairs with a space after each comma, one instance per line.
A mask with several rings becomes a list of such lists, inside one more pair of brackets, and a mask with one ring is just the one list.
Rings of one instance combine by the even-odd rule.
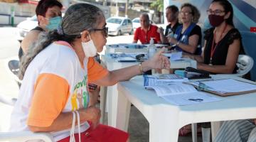
[[74, 4], [58, 31], [42, 33], [21, 61], [23, 79], [11, 114], [11, 131], [50, 132], [55, 141], [129, 141], [126, 132], [99, 124], [100, 109], [88, 94], [87, 82], [107, 86], [153, 68], [169, 68], [156, 53], [138, 65], [108, 71], [94, 60], [107, 40], [103, 12]]

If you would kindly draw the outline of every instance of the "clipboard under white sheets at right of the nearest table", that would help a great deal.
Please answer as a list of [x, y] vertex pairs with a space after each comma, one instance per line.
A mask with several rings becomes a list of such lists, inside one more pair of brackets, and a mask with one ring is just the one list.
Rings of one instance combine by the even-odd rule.
[[[230, 79], [222, 79], [222, 80], [230, 80]], [[235, 79], [231, 79], [231, 80], [235, 80]], [[211, 81], [201, 81], [201, 82], [203, 82], [203, 84], [204, 84], [204, 82], [218, 82], [218, 81], [221, 81], [221, 80], [211, 80]], [[248, 90], [240, 91], [240, 92], [220, 92], [220, 91], [217, 91], [217, 90], [214, 91], [212, 89], [208, 89], [208, 86], [206, 86], [204, 88], [199, 87], [200, 85], [196, 85], [193, 82], [184, 82], [184, 83], [185, 84], [191, 84], [191, 85], [193, 85], [193, 87], [196, 87], [196, 89], [198, 89], [200, 91], [209, 92], [211, 94], [217, 94], [221, 97], [233, 96], [233, 95], [238, 95], [238, 94], [249, 94], [249, 93], [256, 92], [256, 83], [243, 82], [241, 80], [235, 80], [235, 81], [240, 82], [241, 84], [247, 84], [249, 86], [252, 86], [252, 85], [254, 86], [255, 85], [255, 88], [252, 87], [253, 89], [248, 89]], [[226, 86], [228, 86], [228, 84], [226, 84]]]

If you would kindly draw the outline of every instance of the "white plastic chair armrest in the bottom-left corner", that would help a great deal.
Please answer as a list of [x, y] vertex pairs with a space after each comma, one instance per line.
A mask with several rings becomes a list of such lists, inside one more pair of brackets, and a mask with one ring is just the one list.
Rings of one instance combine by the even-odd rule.
[[40, 139], [45, 142], [53, 142], [50, 133], [33, 133], [31, 131], [0, 132], [0, 141], [28, 141]]

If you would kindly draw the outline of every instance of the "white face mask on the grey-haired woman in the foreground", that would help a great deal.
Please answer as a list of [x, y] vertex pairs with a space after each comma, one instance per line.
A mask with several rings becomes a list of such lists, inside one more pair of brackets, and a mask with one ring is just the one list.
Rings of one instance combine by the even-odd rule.
[[[90, 38], [90, 35], [89, 35], [89, 38]], [[82, 42], [82, 50], [84, 51], [85, 56], [87, 58], [94, 57], [97, 54], [97, 49], [91, 38], [88, 42]]]

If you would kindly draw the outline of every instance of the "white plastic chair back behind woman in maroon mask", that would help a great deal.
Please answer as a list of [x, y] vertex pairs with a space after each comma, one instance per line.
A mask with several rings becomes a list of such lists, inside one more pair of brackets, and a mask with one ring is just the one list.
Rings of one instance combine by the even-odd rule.
[[237, 66], [238, 66], [238, 73], [235, 75], [238, 76], [243, 76], [246, 75], [248, 72], [250, 72], [250, 70], [252, 70], [254, 61], [253, 59], [248, 56], [248, 55], [239, 55], [238, 57], [238, 62], [237, 62]]

